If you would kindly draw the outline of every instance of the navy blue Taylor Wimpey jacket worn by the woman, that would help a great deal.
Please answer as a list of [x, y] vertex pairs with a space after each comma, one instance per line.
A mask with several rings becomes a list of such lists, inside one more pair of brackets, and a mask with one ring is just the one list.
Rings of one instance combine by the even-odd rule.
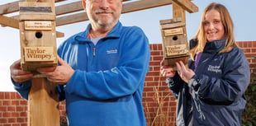
[[[194, 70], [196, 75], [188, 82], [188, 86], [192, 88], [191, 95], [188, 86], [184, 86], [187, 83], [180, 77], [172, 79], [170, 89], [180, 96], [179, 105], [189, 108], [190, 105], [184, 103], [184, 98], [189, 102], [189, 96], [192, 96], [192, 122], [195, 126], [241, 125], [246, 104], [244, 91], [250, 81], [249, 63], [238, 48], [229, 53], [218, 54], [224, 46], [225, 40], [206, 43], [199, 65]], [[194, 62], [191, 60], [189, 68], [194, 69]], [[184, 115], [191, 114], [189, 111], [180, 112], [183, 113], [184, 120], [189, 117]]]

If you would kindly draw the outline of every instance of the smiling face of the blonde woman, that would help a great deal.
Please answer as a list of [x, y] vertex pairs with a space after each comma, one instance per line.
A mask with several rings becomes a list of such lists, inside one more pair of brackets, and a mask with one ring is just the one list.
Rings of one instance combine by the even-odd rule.
[[205, 21], [203, 22], [204, 32], [208, 42], [212, 40], [224, 39], [224, 26], [220, 19], [220, 12], [215, 9], [211, 9], [206, 12]]

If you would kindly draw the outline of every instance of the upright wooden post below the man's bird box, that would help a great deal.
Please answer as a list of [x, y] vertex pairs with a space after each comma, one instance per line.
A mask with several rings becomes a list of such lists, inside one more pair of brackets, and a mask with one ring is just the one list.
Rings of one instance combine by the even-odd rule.
[[56, 85], [44, 77], [32, 79], [29, 94], [28, 126], [59, 126], [59, 100]]

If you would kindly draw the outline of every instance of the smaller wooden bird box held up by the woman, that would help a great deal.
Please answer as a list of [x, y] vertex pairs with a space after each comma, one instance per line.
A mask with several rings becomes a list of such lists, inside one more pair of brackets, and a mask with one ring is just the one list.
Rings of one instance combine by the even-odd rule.
[[175, 67], [175, 62], [187, 64], [189, 49], [187, 43], [186, 24], [183, 21], [160, 21], [163, 39], [164, 65]]

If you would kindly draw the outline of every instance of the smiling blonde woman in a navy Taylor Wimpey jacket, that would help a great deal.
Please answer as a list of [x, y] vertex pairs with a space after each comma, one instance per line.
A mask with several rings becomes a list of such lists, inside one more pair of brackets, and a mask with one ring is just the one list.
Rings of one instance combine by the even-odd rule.
[[188, 68], [181, 61], [176, 63], [177, 72], [161, 67], [173, 95], [178, 96], [178, 125], [241, 125], [250, 72], [233, 28], [226, 7], [212, 2], [202, 13], [197, 39], [190, 42]]

